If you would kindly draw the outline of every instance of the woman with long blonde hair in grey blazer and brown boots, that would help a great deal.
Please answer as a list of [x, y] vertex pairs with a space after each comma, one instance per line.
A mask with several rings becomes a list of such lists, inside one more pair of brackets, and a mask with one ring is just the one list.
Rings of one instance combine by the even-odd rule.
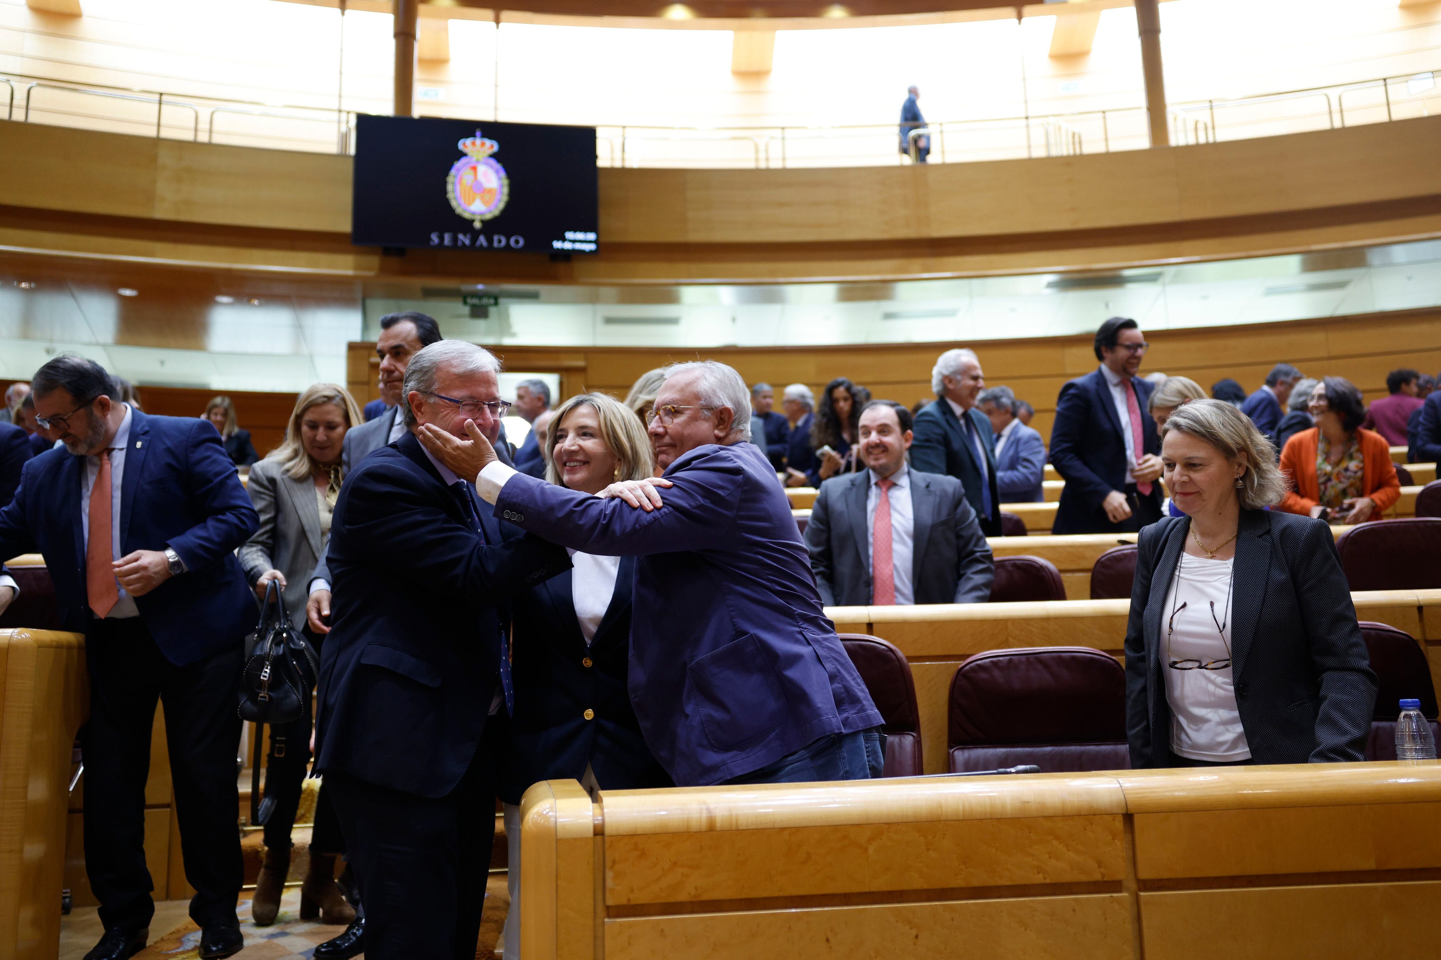
[[[343, 476], [346, 430], [360, 423], [360, 410], [344, 387], [317, 383], [300, 394], [285, 427], [285, 442], [251, 468], [246, 491], [259, 530], [241, 547], [239, 558], [258, 597], [280, 583], [295, 629], [305, 625], [305, 584], [326, 556], [330, 517]], [[318, 642], [318, 638], [317, 638]], [[251, 913], [256, 925], [275, 923], [290, 872], [290, 829], [300, 806], [310, 763], [310, 715], [271, 731], [265, 794], [274, 800], [265, 820], [265, 862], [255, 884]], [[354, 910], [334, 882], [336, 853], [344, 852], [334, 810], [321, 787], [310, 843], [310, 872], [301, 887], [300, 915], [320, 914], [323, 923], [349, 924]]]

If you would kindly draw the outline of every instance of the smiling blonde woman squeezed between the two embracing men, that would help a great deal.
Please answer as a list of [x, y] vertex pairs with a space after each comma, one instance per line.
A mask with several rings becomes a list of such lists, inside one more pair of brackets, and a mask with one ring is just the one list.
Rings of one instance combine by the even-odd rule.
[[[588, 494], [654, 472], [640, 419], [602, 393], [562, 403], [542, 453], [549, 482]], [[672, 786], [646, 746], [625, 684], [634, 558], [572, 550], [571, 563], [512, 603], [516, 708], [490, 718], [506, 728], [497, 787], [510, 866], [506, 960], [520, 953], [519, 803], [526, 789], [540, 780], [579, 780], [592, 794]]]

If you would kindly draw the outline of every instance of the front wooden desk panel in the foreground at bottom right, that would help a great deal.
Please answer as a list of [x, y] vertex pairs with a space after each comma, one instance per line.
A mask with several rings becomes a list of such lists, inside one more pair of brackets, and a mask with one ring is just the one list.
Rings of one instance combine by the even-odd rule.
[[1431, 956], [1438, 815], [1437, 761], [537, 783], [520, 936], [526, 960]]

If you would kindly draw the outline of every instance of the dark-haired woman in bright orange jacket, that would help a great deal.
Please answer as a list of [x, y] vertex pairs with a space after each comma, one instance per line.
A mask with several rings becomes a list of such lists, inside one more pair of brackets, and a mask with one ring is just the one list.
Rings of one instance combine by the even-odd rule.
[[1295, 485], [1281, 510], [1340, 524], [1379, 518], [1399, 499], [1401, 481], [1386, 438], [1360, 426], [1360, 390], [1326, 377], [1311, 393], [1310, 410], [1316, 426], [1294, 435], [1281, 452], [1281, 474]]

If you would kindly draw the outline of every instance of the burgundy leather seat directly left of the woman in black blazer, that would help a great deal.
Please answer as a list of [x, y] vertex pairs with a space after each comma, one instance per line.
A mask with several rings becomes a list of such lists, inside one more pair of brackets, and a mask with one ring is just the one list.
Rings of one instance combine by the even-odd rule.
[[1033, 763], [1045, 773], [1125, 770], [1125, 671], [1088, 646], [977, 653], [955, 671], [951, 773]]

